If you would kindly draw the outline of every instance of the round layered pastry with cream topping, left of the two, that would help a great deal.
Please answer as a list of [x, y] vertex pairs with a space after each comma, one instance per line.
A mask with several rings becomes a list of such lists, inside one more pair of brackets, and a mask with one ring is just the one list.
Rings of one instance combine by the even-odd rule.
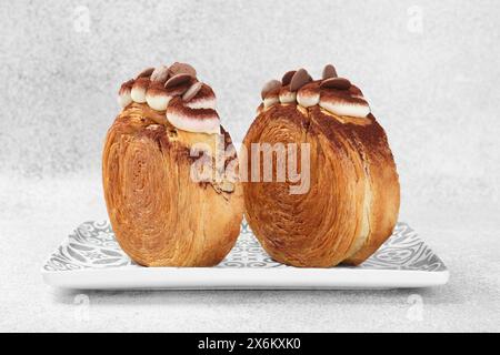
[[102, 180], [123, 251], [147, 266], [212, 266], [243, 214], [238, 159], [212, 89], [183, 63], [142, 71], [119, 91]]

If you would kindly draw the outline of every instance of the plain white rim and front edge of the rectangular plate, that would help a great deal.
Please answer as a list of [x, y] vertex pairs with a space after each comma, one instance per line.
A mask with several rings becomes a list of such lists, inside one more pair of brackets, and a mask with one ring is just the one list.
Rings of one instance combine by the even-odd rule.
[[[86, 223], [97, 221], [86, 221], [79, 224], [73, 232]], [[109, 222], [108, 222], [109, 223]], [[408, 223], [398, 222], [416, 232]], [[71, 233], [73, 233], [71, 232]], [[398, 270], [398, 268], [358, 268], [356, 266], [341, 265], [340, 267], [178, 267], [178, 266], [138, 266], [122, 265], [103, 268], [77, 268], [77, 270], [47, 270], [46, 265], [57, 253], [57, 250], [67, 244], [68, 234], [51, 252], [41, 266], [41, 276], [43, 281], [54, 287], [72, 288], [72, 290], [137, 290], [137, 288], [163, 288], [163, 290], [373, 290], [373, 288], [413, 288], [430, 287], [448, 283], [450, 272], [441, 257], [426, 243], [419, 235], [422, 243], [440, 260], [443, 268], [441, 270]], [[117, 282], [114, 275], [121, 281]], [[161, 276], [158, 276], [161, 275]], [[211, 283], [204, 284], [203, 278], [210, 275]], [[234, 282], [234, 275], [244, 277], [243, 282], [239, 277]], [[170, 278], [171, 276], [176, 276]], [[200, 277], [203, 276], [203, 277]], [[307, 276], [307, 278], [304, 277]], [[374, 277], [373, 277], [374, 276]], [[94, 277], [103, 280], [110, 277], [111, 286], [89, 286], [91, 282], [86, 280], [78, 286], [80, 277]], [[133, 281], [136, 277], [136, 282]], [[140, 282], [137, 282], [139, 277]], [[179, 277], [187, 280], [179, 281]], [[199, 278], [197, 278], [199, 277]], [[292, 280], [292, 278], [296, 280]], [[303, 277], [303, 278], [302, 278]], [[339, 278], [340, 277], [340, 278]], [[177, 278], [177, 280], [176, 280]], [[306, 278], [306, 281], [304, 281]], [[412, 280], [414, 278], [414, 280]], [[70, 280], [70, 282], [68, 282]], [[126, 286], [128, 280], [129, 286]], [[196, 281], [199, 281], [199, 285]], [[229, 281], [232, 280], [231, 285]], [[411, 280], [411, 281], [410, 281]], [[253, 285], [251, 282], [253, 281]], [[284, 282], [287, 281], [287, 282]], [[142, 286], [133, 286], [132, 284], [142, 284]], [[272, 285], [272, 282], [276, 285]], [[317, 284], [314, 284], [317, 283]], [[358, 284], [357, 284], [358, 283]], [[99, 282], [97, 282], [99, 284]], [[217, 286], [221, 284], [222, 286]], [[180, 286], [176, 286], [180, 285]], [[382, 286], [379, 286], [382, 285]]]

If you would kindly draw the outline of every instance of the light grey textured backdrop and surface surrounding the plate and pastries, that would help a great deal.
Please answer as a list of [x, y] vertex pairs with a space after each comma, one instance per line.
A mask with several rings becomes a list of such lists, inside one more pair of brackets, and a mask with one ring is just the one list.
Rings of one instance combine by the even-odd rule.
[[[137, 329], [499, 331], [498, 1], [2, 0], [0, 9], [0, 329], [133, 329], [133, 318]], [[289, 69], [319, 75], [332, 62], [363, 90], [397, 160], [401, 220], [451, 268], [449, 285], [417, 291], [422, 321], [406, 316], [414, 291], [91, 293], [90, 321], [74, 321], [73, 294], [43, 286], [38, 270], [78, 223], [106, 219], [100, 152], [120, 83], [173, 61], [213, 87], [236, 141], [261, 85]]]

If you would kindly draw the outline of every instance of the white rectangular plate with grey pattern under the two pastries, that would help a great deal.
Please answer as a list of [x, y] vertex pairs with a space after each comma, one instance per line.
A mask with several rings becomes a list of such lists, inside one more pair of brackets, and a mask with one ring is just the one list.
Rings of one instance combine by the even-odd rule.
[[442, 261], [408, 224], [360, 266], [298, 268], [274, 262], [246, 222], [229, 255], [214, 267], [143, 267], [118, 245], [109, 222], [82, 223], [42, 267], [43, 280], [64, 288], [352, 290], [427, 287], [448, 282]]

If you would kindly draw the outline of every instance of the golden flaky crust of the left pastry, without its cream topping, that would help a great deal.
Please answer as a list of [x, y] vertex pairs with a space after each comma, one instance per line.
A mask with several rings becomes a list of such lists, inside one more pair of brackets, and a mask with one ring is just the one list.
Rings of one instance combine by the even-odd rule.
[[[228, 148], [231, 139], [221, 131]], [[226, 175], [210, 182], [190, 176], [197, 159], [190, 149], [203, 143], [214, 152], [217, 136], [176, 129], [144, 103], [128, 105], [109, 129], [102, 158], [108, 213], [120, 246], [137, 263], [212, 266], [234, 245], [241, 184]], [[236, 154], [230, 161], [237, 166]]]

